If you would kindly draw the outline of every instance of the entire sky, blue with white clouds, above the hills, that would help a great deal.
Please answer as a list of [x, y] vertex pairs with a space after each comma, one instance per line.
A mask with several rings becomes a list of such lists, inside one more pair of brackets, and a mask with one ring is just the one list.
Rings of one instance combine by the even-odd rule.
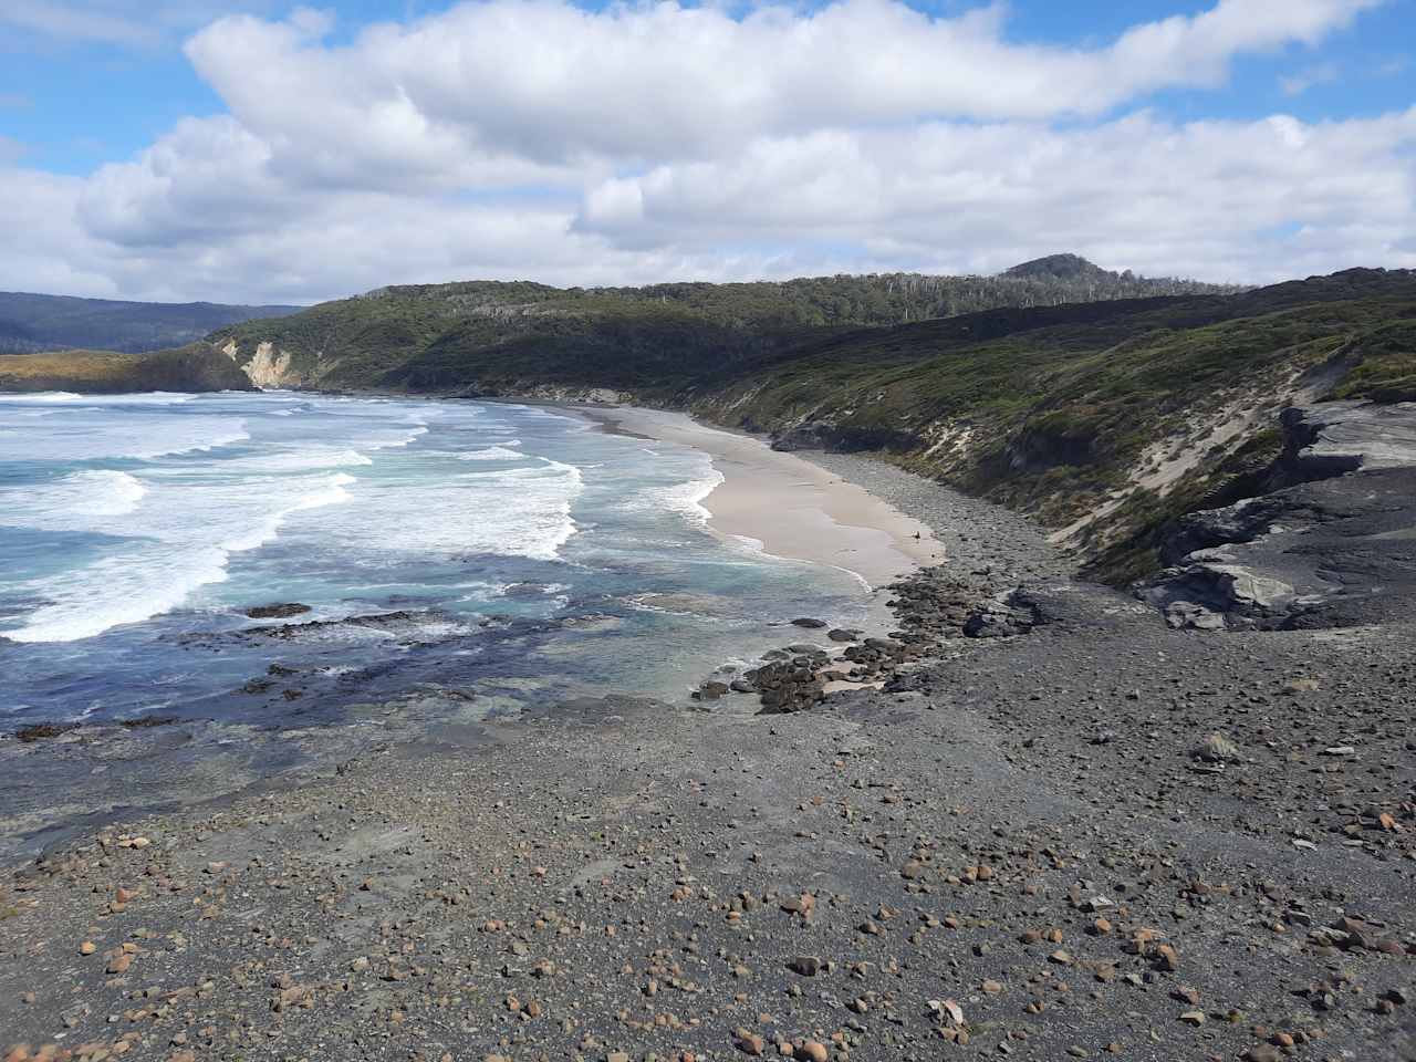
[[0, 290], [1416, 268], [1416, 0], [0, 0]]

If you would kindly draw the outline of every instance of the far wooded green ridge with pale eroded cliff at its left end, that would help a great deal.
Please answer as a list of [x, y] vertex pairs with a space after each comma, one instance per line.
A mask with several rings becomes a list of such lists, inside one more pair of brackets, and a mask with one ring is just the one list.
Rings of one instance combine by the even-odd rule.
[[[1080, 261], [1080, 259], [1078, 259]], [[1090, 266], [1090, 263], [1086, 263]], [[1090, 266], [1076, 276], [824, 276], [759, 283], [549, 287], [470, 282], [385, 287], [212, 341], [256, 377], [300, 387], [481, 389], [530, 375], [548, 384], [687, 385], [804, 338], [997, 307], [1223, 290]], [[270, 371], [261, 344], [286, 358]], [[592, 370], [593, 367], [593, 370]]]

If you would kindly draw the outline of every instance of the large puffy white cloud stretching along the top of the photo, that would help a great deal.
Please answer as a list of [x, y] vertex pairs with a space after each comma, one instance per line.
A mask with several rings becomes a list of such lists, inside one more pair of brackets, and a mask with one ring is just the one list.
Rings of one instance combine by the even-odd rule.
[[564, 166], [712, 157], [826, 125], [1099, 115], [1216, 84], [1233, 58], [1315, 41], [1381, 1], [1221, 0], [1079, 50], [1008, 42], [1001, 7], [944, 18], [840, 0], [739, 20], [677, 3], [489, 0], [348, 47], [303, 23], [224, 18], [187, 54], [242, 123], [320, 156], [348, 152], [357, 127], [360, 164], [432, 166], [460, 149]]

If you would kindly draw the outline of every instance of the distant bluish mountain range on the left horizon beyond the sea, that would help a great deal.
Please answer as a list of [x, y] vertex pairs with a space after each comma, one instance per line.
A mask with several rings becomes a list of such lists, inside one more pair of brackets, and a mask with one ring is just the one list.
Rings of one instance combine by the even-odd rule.
[[181, 347], [228, 324], [297, 310], [299, 306], [129, 303], [0, 292], [0, 354], [76, 347], [136, 354]]

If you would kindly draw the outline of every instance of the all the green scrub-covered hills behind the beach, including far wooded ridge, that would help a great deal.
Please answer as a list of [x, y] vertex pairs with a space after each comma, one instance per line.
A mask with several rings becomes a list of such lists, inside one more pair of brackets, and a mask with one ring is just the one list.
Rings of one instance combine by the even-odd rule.
[[[1154, 569], [1175, 518], [1257, 487], [1284, 406], [1416, 398], [1412, 272], [1157, 295], [1184, 285], [1075, 256], [1018, 269], [391, 287], [211, 341], [261, 387], [633, 401], [874, 452], [1035, 515], [1117, 583]], [[1066, 302], [1079, 286], [1148, 297]]]

